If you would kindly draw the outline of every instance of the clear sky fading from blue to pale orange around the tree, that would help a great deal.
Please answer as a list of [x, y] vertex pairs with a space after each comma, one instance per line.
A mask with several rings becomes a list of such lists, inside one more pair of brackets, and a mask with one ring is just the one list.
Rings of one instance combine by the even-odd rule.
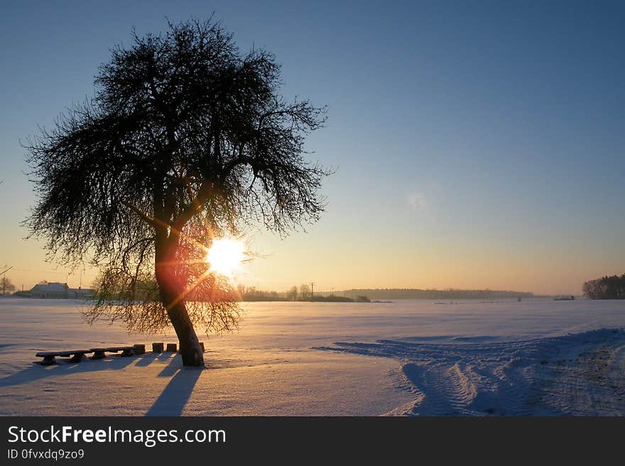
[[21, 239], [19, 138], [91, 95], [132, 26], [213, 11], [276, 54], [285, 96], [329, 106], [308, 149], [337, 168], [308, 233], [251, 234], [266, 257], [244, 282], [577, 294], [625, 272], [623, 2], [4, 1], [0, 266], [18, 288], [67, 274]]

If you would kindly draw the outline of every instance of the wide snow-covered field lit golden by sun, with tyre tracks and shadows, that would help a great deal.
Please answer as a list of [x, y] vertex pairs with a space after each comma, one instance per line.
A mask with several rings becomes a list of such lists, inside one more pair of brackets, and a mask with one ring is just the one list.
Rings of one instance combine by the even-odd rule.
[[244, 304], [208, 370], [169, 354], [43, 367], [39, 350], [175, 341], [0, 299], [1, 415], [625, 414], [625, 301]]

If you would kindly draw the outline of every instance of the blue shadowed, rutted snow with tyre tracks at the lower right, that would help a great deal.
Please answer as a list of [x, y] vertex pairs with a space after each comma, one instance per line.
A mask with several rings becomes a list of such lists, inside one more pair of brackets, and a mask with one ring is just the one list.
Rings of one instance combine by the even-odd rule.
[[393, 380], [414, 401], [390, 415], [625, 414], [625, 331], [621, 328], [501, 343], [490, 343], [488, 338], [460, 341], [469, 343], [378, 340], [315, 349], [399, 360]]

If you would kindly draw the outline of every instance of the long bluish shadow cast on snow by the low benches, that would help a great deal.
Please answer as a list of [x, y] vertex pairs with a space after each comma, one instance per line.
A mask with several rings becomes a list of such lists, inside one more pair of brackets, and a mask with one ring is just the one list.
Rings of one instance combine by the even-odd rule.
[[[143, 359], [143, 357], [138, 356]], [[80, 374], [82, 372], [96, 372], [99, 370], [121, 370], [136, 361], [137, 357], [108, 356], [104, 360], [84, 360], [70, 364], [60, 360], [58, 365], [42, 366], [33, 364], [15, 374], [2, 377], [0, 387], [12, 387], [13, 385], [27, 384], [46, 377], [67, 377], [67, 375]]]

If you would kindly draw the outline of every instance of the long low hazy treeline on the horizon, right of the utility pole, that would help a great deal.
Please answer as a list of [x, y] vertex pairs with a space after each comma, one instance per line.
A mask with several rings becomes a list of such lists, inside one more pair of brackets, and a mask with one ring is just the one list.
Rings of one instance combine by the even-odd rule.
[[531, 298], [533, 293], [511, 292], [491, 289], [347, 289], [338, 292], [342, 296], [366, 295], [371, 299], [495, 299], [495, 298]]

